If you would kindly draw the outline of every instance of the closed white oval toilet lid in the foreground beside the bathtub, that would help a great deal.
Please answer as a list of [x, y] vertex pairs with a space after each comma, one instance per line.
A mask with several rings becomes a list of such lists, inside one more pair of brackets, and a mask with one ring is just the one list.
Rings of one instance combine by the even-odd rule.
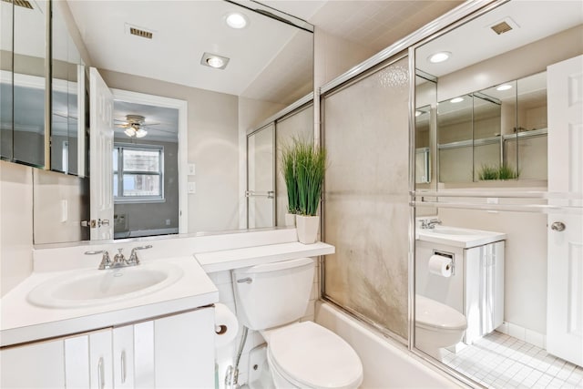
[[274, 331], [268, 344], [271, 362], [300, 387], [348, 389], [363, 381], [363, 364], [353, 348], [315, 322]]

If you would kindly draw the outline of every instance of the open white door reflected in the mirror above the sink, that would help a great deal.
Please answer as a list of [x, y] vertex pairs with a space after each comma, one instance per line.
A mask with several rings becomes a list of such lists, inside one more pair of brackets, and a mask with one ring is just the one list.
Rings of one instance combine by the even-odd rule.
[[113, 239], [113, 95], [95, 67], [89, 69], [89, 192], [91, 241]]

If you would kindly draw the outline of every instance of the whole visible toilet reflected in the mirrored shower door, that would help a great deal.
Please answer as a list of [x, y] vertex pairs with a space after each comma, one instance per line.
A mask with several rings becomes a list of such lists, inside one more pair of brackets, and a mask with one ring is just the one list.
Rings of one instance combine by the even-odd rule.
[[415, 294], [415, 346], [442, 361], [443, 348], [464, 338], [467, 321], [449, 305]]

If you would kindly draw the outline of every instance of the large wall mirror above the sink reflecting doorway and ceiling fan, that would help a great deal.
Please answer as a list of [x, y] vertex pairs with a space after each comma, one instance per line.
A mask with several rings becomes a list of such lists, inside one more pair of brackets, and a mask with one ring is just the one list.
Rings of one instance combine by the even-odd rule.
[[[114, 211], [103, 236], [247, 229], [247, 134], [312, 92], [313, 27], [253, 2], [59, 3], [67, 23], [55, 25], [77, 30], [69, 32], [80, 36], [88, 59], [69, 51], [66, 61], [53, 61], [62, 85], [61, 95], [53, 92], [59, 105], [53, 126], [63, 134], [52, 153], [56, 170], [84, 177], [97, 156], [89, 149], [85, 165], [77, 157], [77, 145], [90, 140], [83, 128], [88, 115], [72, 86], [96, 67], [113, 91]], [[247, 25], [230, 27], [233, 13]], [[307, 123], [302, 130], [312, 132], [313, 118]], [[274, 164], [273, 158], [270, 171]], [[87, 239], [77, 225], [92, 219], [84, 210], [96, 203], [89, 189], [95, 179], [91, 171], [84, 179], [35, 171], [36, 244]], [[268, 219], [269, 227], [277, 224]]]

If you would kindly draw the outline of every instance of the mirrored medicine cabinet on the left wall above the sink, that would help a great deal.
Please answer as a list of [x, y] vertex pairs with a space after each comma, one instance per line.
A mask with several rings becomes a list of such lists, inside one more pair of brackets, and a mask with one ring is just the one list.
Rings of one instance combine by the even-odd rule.
[[61, 7], [0, 4], [0, 158], [85, 176], [85, 70]]

